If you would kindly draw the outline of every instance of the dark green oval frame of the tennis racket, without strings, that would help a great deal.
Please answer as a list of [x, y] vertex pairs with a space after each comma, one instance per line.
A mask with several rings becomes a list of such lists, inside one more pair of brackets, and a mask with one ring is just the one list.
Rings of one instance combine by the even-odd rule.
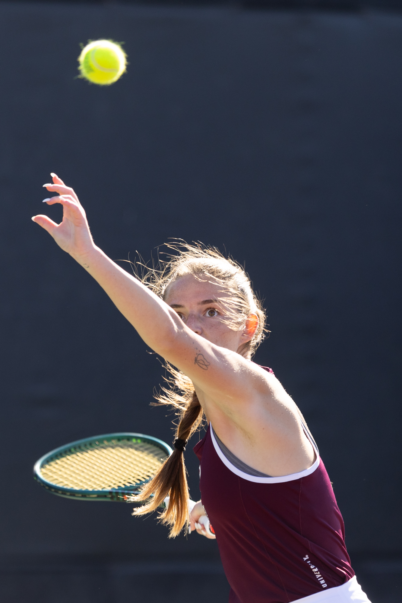
[[[113, 488], [112, 490], [72, 490], [71, 488], [64, 488], [62, 486], [57, 486], [52, 484], [52, 482], [47, 481], [43, 478], [41, 469], [43, 465], [53, 461], [57, 458], [62, 458], [65, 456], [66, 452], [75, 452], [76, 449], [88, 450], [93, 447], [92, 444], [95, 444], [97, 441], [127, 441], [127, 440], [141, 440], [144, 442], [148, 442], [157, 446], [161, 449], [161, 452], [164, 453], [165, 456], [170, 456], [173, 450], [168, 444], [166, 444], [162, 440], [158, 440], [158, 438], [153, 438], [151, 435], [144, 434], [135, 434], [132, 432], [120, 432], [115, 434], [106, 434], [106, 435], [95, 435], [92, 438], [84, 438], [83, 440], [76, 440], [65, 446], [60, 446], [51, 452], [43, 455], [39, 461], [36, 461], [34, 464], [34, 479], [46, 488], [46, 490], [50, 491], [52, 494], [56, 494], [57, 496], [62, 496], [63, 498], [69, 498], [73, 500], [103, 500], [104, 502], [129, 502], [127, 500], [132, 494], [136, 494], [138, 488], [141, 488], [142, 485], [146, 484], [149, 480], [144, 480], [135, 486], [126, 486], [124, 488]], [[131, 502], [131, 504], [134, 504]]]

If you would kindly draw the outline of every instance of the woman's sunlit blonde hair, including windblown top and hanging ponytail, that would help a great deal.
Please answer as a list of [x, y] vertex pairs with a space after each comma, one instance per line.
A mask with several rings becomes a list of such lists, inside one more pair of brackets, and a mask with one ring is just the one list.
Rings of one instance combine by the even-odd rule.
[[[156, 295], [164, 299], [167, 289], [186, 274], [192, 274], [199, 280], [208, 280], [220, 286], [219, 301], [227, 310], [225, 318], [229, 327], [234, 330], [244, 328], [247, 318], [254, 314], [258, 317], [255, 333], [238, 353], [250, 358], [264, 338], [267, 329], [266, 317], [260, 300], [252, 290], [250, 279], [240, 264], [231, 257], [225, 257], [215, 247], [202, 244], [188, 245], [168, 244], [167, 260], [158, 257], [156, 267], [142, 268], [141, 281]], [[170, 405], [177, 409], [179, 423], [176, 427], [176, 438], [187, 440], [200, 427], [203, 410], [193, 382], [181, 371], [166, 363], [170, 376], [165, 378], [168, 387], [162, 387], [162, 393], [156, 396], [157, 403]], [[162, 464], [156, 475], [142, 487], [139, 494], [132, 497], [135, 502], [145, 502], [133, 511], [133, 515], [143, 515], [160, 507], [165, 497], [170, 496], [168, 507], [159, 514], [162, 523], [171, 528], [170, 537], [177, 536], [182, 528], [188, 528], [188, 485], [182, 450], [174, 449], [171, 456]]]

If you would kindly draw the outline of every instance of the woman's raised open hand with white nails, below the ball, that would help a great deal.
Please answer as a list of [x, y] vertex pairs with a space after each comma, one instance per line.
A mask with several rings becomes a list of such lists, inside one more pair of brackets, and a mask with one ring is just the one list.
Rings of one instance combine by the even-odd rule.
[[53, 184], [43, 185], [49, 192], [57, 192], [56, 197], [43, 201], [48, 205], [60, 203], [63, 206], [63, 220], [60, 224], [48, 216], [33, 216], [33, 221], [53, 236], [57, 245], [74, 257], [85, 256], [94, 248], [85, 211], [72, 188], [66, 186], [56, 174], [51, 174]]

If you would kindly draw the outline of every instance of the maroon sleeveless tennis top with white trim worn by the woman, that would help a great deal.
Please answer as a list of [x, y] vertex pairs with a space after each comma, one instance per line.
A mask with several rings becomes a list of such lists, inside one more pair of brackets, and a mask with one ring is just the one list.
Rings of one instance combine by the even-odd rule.
[[194, 452], [202, 504], [231, 586], [229, 603], [289, 603], [354, 576], [318, 454], [310, 469], [291, 476], [249, 476], [223, 456], [210, 426]]

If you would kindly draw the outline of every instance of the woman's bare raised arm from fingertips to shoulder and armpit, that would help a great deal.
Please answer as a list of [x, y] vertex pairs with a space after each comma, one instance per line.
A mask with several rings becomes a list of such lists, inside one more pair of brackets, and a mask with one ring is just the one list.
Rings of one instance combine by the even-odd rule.
[[269, 475], [310, 466], [311, 444], [302, 434], [296, 406], [275, 377], [198, 335], [165, 301], [112, 262], [94, 244], [75, 192], [56, 175], [53, 182], [45, 186], [59, 196], [45, 202], [62, 204], [62, 223], [45, 215], [33, 221], [97, 280], [150, 348], [190, 377], [206, 416], [229, 449]]

